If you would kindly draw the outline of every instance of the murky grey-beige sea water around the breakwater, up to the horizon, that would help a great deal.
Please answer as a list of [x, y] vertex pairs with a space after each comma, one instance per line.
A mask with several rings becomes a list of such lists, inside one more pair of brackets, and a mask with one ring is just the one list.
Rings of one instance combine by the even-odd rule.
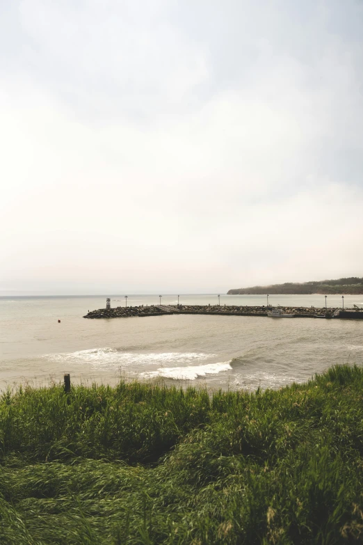
[[[177, 303], [163, 295], [163, 304]], [[61, 381], [115, 384], [120, 378], [162, 379], [210, 388], [280, 388], [309, 379], [334, 363], [363, 363], [363, 322], [248, 316], [166, 315], [83, 319], [106, 297], [0, 298], [0, 387]], [[180, 303], [217, 304], [217, 295], [182, 295]], [[264, 305], [266, 296], [220, 297], [221, 305]], [[322, 295], [275, 295], [282, 306], [325, 306]], [[363, 296], [344, 306], [363, 308]], [[111, 296], [111, 306], [124, 306]], [[159, 304], [129, 296], [128, 306]], [[341, 296], [328, 296], [328, 307]], [[58, 324], [58, 319], [61, 323]]]

